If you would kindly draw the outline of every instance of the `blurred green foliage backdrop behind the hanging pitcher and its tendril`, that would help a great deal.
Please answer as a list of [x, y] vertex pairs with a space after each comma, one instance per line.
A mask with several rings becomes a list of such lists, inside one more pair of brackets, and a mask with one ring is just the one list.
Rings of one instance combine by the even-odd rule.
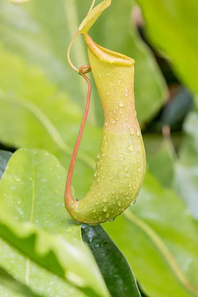
[[[87, 86], [68, 66], [66, 49], [90, 2], [0, 0], [0, 149], [43, 148], [68, 168]], [[198, 288], [198, 1], [112, 0], [89, 34], [135, 60], [135, 106], [148, 171], [132, 212]], [[71, 57], [76, 66], [88, 63], [82, 36]], [[102, 124], [93, 82], [74, 170], [78, 198], [92, 181]], [[149, 232], [141, 234], [138, 224], [125, 220], [120, 216], [105, 229], [131, 264], [142, 294], [198, 296], [186, 289], [165, 250], [149, 241]]]

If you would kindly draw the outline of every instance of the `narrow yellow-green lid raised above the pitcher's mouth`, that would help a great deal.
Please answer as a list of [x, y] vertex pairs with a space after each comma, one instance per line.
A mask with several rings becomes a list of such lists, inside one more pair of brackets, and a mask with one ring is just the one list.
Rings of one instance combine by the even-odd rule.
[[79, 26], [79, 32], [81, 34], [86, 34], [91, 26], [98, 19], [100, 14], [111, 4], [111, 0], [103, 0], [99, 5], [94, 7], [88, 15], [83, 19], [81, 25]]

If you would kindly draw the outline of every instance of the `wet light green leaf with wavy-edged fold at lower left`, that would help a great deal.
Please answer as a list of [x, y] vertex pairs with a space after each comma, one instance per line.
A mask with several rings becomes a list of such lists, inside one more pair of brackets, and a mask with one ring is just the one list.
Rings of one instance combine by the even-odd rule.
[[38, 294], [108, 296], [91, 253], [82, 245], [80, 225], [65, 210], [65, 180], [66, 170], [48, 152], [16, 151], [0, 181], [0, 236], [67, 282], [3, 240], [0, 265]]

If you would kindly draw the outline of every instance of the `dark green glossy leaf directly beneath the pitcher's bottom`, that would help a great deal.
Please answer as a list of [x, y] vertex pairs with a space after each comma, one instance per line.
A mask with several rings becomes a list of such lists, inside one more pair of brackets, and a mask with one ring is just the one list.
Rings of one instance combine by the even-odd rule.
[[111, 296], [141, 297], [131, 267], [101, 226], [82, 225], [82, 240], [94, 254]]

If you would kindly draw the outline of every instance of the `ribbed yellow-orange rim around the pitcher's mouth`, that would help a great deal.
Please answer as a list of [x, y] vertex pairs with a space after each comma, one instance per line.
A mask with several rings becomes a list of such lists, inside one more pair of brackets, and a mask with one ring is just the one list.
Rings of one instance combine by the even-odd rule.
[[118, 66], [132, 66], [135, 63], [135, 61], [128, 56], [99, 46], [88, 34], [84, 34], [84, 40], [91, 53], [102, 62]]

